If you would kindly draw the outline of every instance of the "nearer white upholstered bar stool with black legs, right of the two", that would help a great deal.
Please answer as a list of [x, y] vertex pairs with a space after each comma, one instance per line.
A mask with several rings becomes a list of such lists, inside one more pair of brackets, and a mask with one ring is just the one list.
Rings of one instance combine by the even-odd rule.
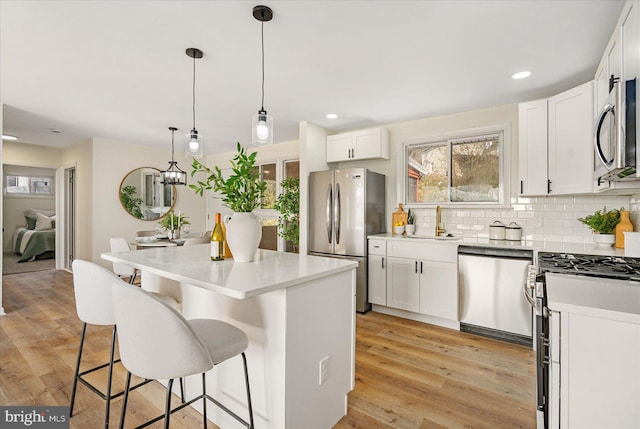
[[[203, 401], [205, 429], [207, 427], [207, 399], [243, 426], [249, 429], [254, 428], [247, 359], [244, 354], [249, 345], [249, 339], [242, 330], [220, 320], [186, 320], [174, 308], [156, 296], [122, 281], [114, 282], [113, 303], [116, 326], [118, 327], [120, 357], [122, 364], [129, 371], [127, 387], [131, 382], [132, 373], [145, 379], [169, 380], [164, 415], [158, 416], [136, 429], [149, 426], [163, 418], [164, 427], [168, 429], [172, 413], [199, 399]], [[205, 373], [215, 365], [237, 355], [242, 355], [244, 365], [249, 422], [206, 392]], [[173, 380], [194, 374], [202, 374], [202, 394], [171, 409]], [[128, 389], [125, 388], [120, 428], [124, 427], [128, 397]]]

